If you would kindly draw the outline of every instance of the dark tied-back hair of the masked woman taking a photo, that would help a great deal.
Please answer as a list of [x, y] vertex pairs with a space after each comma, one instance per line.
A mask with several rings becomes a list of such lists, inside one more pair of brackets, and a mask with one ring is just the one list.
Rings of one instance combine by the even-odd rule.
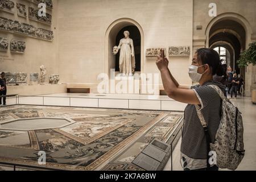
[[197, 60], [201, 61], [202, 65], [209, 65], [212, 75], [224, 75], [224, 69], [222, 68], [220, 55], [218, 55], [218, 52], [209, 48], [200, 48], [197, 49], [196, 53]]

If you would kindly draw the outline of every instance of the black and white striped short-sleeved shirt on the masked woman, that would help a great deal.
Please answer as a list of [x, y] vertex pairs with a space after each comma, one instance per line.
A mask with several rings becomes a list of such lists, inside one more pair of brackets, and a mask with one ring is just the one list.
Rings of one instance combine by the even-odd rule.
[[[213, 143], [221, 119], [221, 98], [213, 88], [207, 85], [217, 85], [223, 92], [225, 86], [216, 81], [208, 81], [203, 85], [191, 86], [201, 103], [201, 112], [208, 124], [210, 142]], [[203, 126], [197, 116], [195, 105], [191, 104], [188, 104], [184, 111], [181, 153], [192, 159], [207, 159], [207, 141]]]

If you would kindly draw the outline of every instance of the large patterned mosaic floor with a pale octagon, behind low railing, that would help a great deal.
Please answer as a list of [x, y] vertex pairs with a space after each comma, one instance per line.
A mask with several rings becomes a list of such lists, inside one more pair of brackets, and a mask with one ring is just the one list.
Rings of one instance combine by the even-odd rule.
[[15, 105], [0, 109], [0, 163], [67, 170], [143, 170], [131, 162], [167, 142], [183, 112]]

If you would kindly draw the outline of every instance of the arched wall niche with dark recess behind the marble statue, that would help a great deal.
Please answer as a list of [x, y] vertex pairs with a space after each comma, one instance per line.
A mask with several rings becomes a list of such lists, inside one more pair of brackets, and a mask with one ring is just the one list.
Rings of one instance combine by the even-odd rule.
[[133, 19], [121, 18], [110, 24], [105, 34], [105, 73], [109, 76], [110, 69], [119, 72], [119, 54], [113, 55], [112, 52], [113, 47], [118, 46], [119, 38], [123, 38], [123, 30], [130, 30], [130, 38], [134, 40], [135, 56], [137, 56], [135, 72], [144, 72], [144, 34], [142, 27]]

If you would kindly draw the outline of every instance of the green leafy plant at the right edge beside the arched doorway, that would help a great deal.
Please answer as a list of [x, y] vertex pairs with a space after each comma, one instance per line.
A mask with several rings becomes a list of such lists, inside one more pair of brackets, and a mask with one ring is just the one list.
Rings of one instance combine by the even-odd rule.
[[237, 63], [240, 68], [247, 67], [249, 64], [256, 65], [256, 42], [249, 44], [249, 48], [240, 54]]

